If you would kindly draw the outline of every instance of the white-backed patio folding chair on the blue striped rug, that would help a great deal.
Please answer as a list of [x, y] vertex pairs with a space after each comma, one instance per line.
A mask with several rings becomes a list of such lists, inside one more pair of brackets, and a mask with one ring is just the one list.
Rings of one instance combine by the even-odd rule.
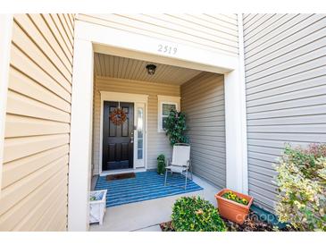
[[[167, 183], [168, 173], [180, 173], [186, 177], [185, 190], [187, 189], [188, 172], [191, 174], [192, 181], [192, 169], [190, 161], [190, 145], [184, 143], [178, 143], [173, 146], [172, 161], [168, 159], [165, 165], [165, 181], [164, 185], [171, 185]], [[184, 174], [185, 173], [185, 174]], [[175, 186], [175, 185], [174, 185]], [[180, 187], [180, 186], [178, 186]]]

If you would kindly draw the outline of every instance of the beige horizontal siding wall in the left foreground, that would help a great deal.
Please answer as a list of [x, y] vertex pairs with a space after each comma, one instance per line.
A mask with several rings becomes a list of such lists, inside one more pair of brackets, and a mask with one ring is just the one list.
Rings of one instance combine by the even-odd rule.
[[66, 231], [72, 14], [16, 14], [0, 231]]

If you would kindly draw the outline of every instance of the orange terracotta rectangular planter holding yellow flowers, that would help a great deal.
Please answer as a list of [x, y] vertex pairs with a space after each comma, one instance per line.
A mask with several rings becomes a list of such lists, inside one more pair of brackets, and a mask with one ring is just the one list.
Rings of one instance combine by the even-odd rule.
[[[247, 199], [248, 204], [243, 205], [233, 200], [223, 198], [222, 195], [228, 191], [232, 191], [241, 199]], [[219, 193], [215, 195], [215, 198], [217, 200], [217, 205], [219, 207], [220, 215], [238, 224], [243, 224], [245, 222], [245, 219], [249, 213], [249, 208], [254, 200], [253, 197], [229, 189], [221, 190]]]

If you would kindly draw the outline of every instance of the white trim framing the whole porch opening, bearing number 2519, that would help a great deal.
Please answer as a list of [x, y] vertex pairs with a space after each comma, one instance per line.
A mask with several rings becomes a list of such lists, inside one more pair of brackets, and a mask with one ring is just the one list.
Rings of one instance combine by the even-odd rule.
[[[158, 46], [175, 46], [175, 55]], [[75, 21], [71, 104], [68, 230], [88, 230], [92, 149], [93, 52], [224, 74], [227, 187], [247, 192], [245, 80], [239, 55], [226, 55], [124, 30]], [[241, 51], [241, 48], [239, 49]]]

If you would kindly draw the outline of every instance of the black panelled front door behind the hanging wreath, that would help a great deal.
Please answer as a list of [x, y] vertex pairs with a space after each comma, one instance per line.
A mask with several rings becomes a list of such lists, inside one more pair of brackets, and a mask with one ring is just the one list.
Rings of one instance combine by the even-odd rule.
[[114, 170], [133, 167], [134, 156], [134, 104], [121, 102], [126, 121], [116, 125], [110, 114], [119, 107], [118, 102], [104, 101], [102, 169]]

